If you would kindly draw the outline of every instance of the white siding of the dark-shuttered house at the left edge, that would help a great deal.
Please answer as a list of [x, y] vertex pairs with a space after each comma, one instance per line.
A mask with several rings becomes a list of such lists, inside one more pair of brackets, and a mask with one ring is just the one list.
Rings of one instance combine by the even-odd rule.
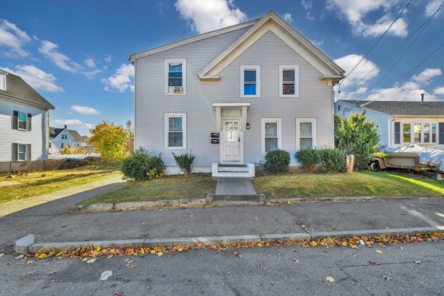
[[[31, 131], [12, 129], [13, 112], [32, 114]], [[46, 159], [46, 110], [0, 98], [0, 162], [10, 162], [12, 143], [31, 144], [31, 159]]]

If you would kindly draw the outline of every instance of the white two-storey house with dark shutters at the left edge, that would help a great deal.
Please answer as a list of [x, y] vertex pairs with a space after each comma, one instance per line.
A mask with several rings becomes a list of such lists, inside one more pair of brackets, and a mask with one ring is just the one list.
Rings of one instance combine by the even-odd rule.
[[53, 109], [22, 78], [0, 70], [0, 162], [46, 159]]

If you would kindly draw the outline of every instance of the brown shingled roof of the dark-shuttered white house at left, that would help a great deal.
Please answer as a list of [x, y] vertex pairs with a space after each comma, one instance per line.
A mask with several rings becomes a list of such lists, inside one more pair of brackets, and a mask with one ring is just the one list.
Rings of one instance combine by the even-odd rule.
[[40, 105], [40, 107], [47, 109], [56, 109], [56, 107], [46, 101], [43, 96], [36, 92], [35, 89], [28, 85], [21, 77], [6, 71], [1, 71], [1, 73], [6, 73], [6, 90], [0, 89], [0, 95], [26, 101], [33, 105]]

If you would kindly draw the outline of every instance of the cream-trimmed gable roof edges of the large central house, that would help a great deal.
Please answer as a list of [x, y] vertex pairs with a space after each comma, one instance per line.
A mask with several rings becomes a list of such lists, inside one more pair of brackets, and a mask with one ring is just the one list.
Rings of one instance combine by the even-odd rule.
[[179, 42], [174, 42], [155, 49], [143, 51], [142, 53], [130, 55], [130, 62], [134, 64], [135, 60], [139, 58], [144, 58], [148, 55], [174, 49], [178, 46], [204, 40], [223, 33], [236, 31], [240, 28], [248, 28], [248, 30], [198, 73], [198, 77], [201, 80], [219, 80], [219, 73], [221, 73], [225, 67], [239, 57], [239, 55], [244, 53], [249, 46], [254, 44], [268, 31], [275, 33], [275, 35], [280, 37], [283, 42], [291, 47], [291, 49], [307, 60], [311, 66], [317, 69], [322, 74], [321, 80], [329, 80], [334, 85], [336, 82], [343, 79], [343, 73], [345, 73], [345, 71], [341, 69], [341, 67], [330, 60], [330, 58], [328, 58], [322, 51], [309, 42], [309, 40], [307, 40], [286, 21], [284, 21], [284, 19], [273, 12], [273, 10], [270, 10], [270, 12], [260, 19], [247, 21], [242, 24], [222, 28], [209, 33], [200, 34]]

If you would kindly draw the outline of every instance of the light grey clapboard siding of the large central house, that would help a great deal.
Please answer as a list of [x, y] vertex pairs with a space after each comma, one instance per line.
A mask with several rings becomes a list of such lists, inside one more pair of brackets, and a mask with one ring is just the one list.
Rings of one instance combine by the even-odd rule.
[[[135, 148], [164, 152], [166, 166], [176, 166], [169, 150], [164, 150], [164, 113], [187, 113], [187, 151], [196, 155], [195, 167], [210, 170], [219, 161], [219, 145], [210, 135], [216, 130], [213, 103], [250, 103], [244, 133], [244, 162], [258, 163], [261, 155], [261, 119], [282, 119], [282, 149], [291, 153], [296, 165], [296, 119], [316, 119], [317, 146], [334, 146], [332, 87], [319, 80], [321, 73], [284, 44], [266, 33], [220, 73], [219, 81], [201, 81], [198, 71], [221, 53], [247, 28], [207, 40], [148, 55], [135, 62]], [[164, 95], [164, 60], [187, 60], [185, 96]], [[279, 97], [279, 65], [299, 65], [300, 97]], [[261, 97], [240, 97], [240, 66], [260, 65]], [[174, 150], [184, 153], [185, 150]]]

